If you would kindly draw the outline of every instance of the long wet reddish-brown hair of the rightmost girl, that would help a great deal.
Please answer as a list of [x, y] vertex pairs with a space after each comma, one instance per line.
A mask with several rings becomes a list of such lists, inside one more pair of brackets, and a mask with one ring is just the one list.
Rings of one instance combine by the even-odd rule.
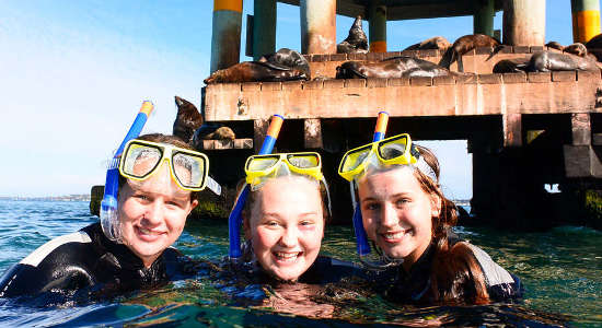
[[440, 199], [440, 211], [432, 220], [432, 245], [435, 256], [430, 271], [430, 297], [435, 302], [485, 304], [489, 294], [481, 265], [471, 248], [463, 242], [450, 246], [449, 232], [458, 222], [455, 204], [443, 196], [439, 185], [440, 166], [437, 156], [429, 149], [416, 145], [420, 156], [432, 168], [437, 180], [420, 169], [414, 171], [422, 190]]

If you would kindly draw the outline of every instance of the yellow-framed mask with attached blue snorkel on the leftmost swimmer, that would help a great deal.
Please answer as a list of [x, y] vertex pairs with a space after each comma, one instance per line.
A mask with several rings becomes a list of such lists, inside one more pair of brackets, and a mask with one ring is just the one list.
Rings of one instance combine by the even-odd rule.
[[[131, 183], [143, 181], [165, 163], [180, 189], [200, 191], [206, 186], [215, 194], [221, 194], [221, 187], [208, 175], [209, 159], [200, 152], [178, 148], [169, 143], [158, 143], [137, 140], [140, 131], [152, 110], [152, 104], [144, 102], [128, 134], [115, 153], [107, 169], [105, 195], [101, 203], [101, 226], [106, 237], [121, 243], [121, 229], [118, 218], [119, 174]], [[167, 177], [170, 179], [170, 177]]]

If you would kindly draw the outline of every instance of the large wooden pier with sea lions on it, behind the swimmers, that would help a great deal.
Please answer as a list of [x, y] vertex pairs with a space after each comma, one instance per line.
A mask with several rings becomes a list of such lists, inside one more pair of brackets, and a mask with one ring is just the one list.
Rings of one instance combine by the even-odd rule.
[[[278, 150], [311, 149], [323, 154], [325, 176], [335, 196], [335, 219], [348, 223], [348, 186], [336, 175], [335, 167], [346, 150], [370, 140], [368, 136], [372, 133], [377, 113], [386, 110], [391, 115], [390, 136], [408, 132], [417, 140], [467, 140], [473, 156], [471, 207], [479, 220], [473, 223], [520, 230], [571, 223], [570, 218], [580, 210], [579, 190], [602, 187], [600, 71], [491, 73], [499, 60], [528, 59], [533, 52], [551, 50], [543, 46], [545, 0], [280, 2], [299, 4], [302, 11], [323, 8], [348, 16], [358, 13], [366, 16], [378, 9], [379, 15], [368, 16], [373, 38], [371, 52], [332, 54], [332, 42], [321, 44], [317, 40], [333, 38], [333, 25], [327, 24], [327, 19], [302, 12], [302, 48], [310, 61], [313, 80], [225, 83], [204, 87], [206, 120], [224, 122], [243, 138], [225, 143], [207, 142], [212, 164], [223, 172], [220, 181], [235, 185], [243, 175], [241, 163], [244, 157], [252, 154], [252, 148], [257, 148], [263, 140], [267, 119], [273, 114], [280, 114], [287, 121], [277, 142]], [[579, 26], [580, 10], [591, 9], [579, 7], [581, 0], [572, 2], [577, 3], [574, 5], [575, 26]], [[266, 0], [254, 20], [275, 22], [275, 5], [276, 0]], [[524, 8], [529, 8], [529, 12], [523, 11]], [[503, 43], [508, 46], [490, 59], [491, 48], [477, 48], [464, 55], [464, 69], [474, 74], [433, 79], [334, 79], [336, 67], [347, 60], [412, 56], [439, 62], [442, 56], [439, 50], [386, 52], [386, 31], [382, 31], [386, 22], [383, 24], [383, 19], [408, 19], [404, 14], [412, 14], [412, 19], [452, 16], [472, 12], [474, 32], [491, 35], [493, 15], [499, 10], [505, 11]], [[270, 27], [275, 31], [276, 26], [270, 24], [261, 25], [263, 30], [252, 26], [255, 44], [247, 48], [264, 52], [275, 50], [271, 40], [275, 34]], [[311, 26], [322, 26], [324, 31], [322, 34], [309, 33]], [[576, 32], [576, 40], [595, 30], [588, 28]], [[595, 34], [599, 34], [599, 25], [597, 28]], [[257, 33], [269, 37], [258, 37]], [[229, 36], [223, 35], [222, 40], [228, 39]], [[256, 57], [258, 54], [251, 55]], [[451, 70], [456, 70], [455, 65]], [[563, 192], [548, 194], [545, 184], [558, 184]]]

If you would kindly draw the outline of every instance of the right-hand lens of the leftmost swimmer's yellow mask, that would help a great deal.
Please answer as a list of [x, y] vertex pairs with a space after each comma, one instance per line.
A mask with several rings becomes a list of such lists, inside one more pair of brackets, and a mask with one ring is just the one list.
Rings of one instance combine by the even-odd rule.
[[177, 152], [172, 157], [173, 172], [185, 188], [201, 188], [205, 183], [205, 157]]

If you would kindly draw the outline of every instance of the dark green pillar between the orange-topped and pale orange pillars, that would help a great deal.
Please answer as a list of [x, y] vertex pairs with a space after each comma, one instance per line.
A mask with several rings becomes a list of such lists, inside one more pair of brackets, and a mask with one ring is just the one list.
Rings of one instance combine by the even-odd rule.
[[276, 51], [276, 0], [255, 0], [253, 15], [253, 60], [258, 60]]

